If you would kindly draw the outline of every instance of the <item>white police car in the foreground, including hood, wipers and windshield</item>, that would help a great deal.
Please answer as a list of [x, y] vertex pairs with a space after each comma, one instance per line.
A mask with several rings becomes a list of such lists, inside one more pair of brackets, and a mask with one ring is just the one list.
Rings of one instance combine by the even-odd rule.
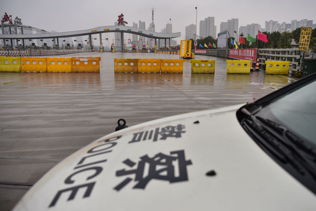
[[14, 210], [316, 210], [316, 74], [254, 103], [102, 137]]

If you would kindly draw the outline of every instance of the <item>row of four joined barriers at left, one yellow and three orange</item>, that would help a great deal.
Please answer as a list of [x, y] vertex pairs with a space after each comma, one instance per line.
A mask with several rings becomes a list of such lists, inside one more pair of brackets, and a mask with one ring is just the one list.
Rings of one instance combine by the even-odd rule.
[[42, 58], [0, 56], [0, 72], [100, 73], [100, 57]]

